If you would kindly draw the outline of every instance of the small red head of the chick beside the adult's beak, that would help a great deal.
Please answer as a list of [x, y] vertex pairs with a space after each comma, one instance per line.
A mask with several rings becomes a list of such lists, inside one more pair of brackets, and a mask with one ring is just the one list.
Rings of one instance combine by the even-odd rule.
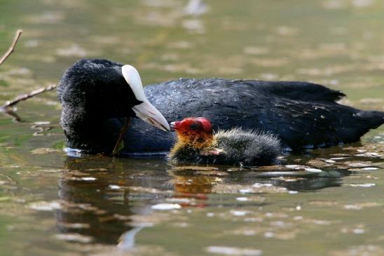
[[187, 144], [196, 149], [212, 144], [212, 124], [205, 117], [188, 117], [182, 121], [170, 123], [170, 127], [177, 132], [181, 144]]

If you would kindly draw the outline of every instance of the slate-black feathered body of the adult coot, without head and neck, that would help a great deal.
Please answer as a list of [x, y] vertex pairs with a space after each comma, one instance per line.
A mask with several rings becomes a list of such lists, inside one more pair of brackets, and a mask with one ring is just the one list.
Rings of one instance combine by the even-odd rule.
[[[343, 93], [306, 82], [179, 79], [146, 86], [145, 92], [168, 121], [206, 116], [214, 130], [266, 130], [292, 149], [355, 142], [384, 121], [383, 112], [340, 105]], [[141, 144], [130, 143], [128, 151], [167, 150], [174, 142], [174, 135], [140, 121], [132, 121], [129, 134]]]

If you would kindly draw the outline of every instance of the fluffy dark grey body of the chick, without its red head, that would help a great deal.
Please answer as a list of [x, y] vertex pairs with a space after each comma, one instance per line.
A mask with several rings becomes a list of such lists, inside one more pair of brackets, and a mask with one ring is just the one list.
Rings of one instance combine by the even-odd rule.
[[[181, 142], [168, 155], [172, 163], [223, 164], [228, 166], [266, 166], [277, 163], [281, 153], [280, 140], [275, 135], [254, 130], [233, 128], [214, 134], [213, 144], [196, 148]], [[212, 154], [215, 151], [215, 154]]]

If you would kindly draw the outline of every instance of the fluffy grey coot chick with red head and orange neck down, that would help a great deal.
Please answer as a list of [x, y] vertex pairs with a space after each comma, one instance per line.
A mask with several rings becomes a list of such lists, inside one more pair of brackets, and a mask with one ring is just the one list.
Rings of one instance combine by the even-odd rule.
[[215, 163], [231, 166], [265, 166], [276, 162], [280, 140], [270, 133], [232, 128], [212, 133], [204, 117], [171, 123], [177, 142], [168, 159], [172, 163]]

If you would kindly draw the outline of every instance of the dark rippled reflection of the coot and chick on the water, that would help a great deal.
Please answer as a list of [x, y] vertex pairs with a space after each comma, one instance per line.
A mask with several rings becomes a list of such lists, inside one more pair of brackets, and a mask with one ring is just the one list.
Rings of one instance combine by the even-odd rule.
[[[225, 208], [239, 203], [235, 198], [248, 188], [253, 189], [249, 193], [262, 192], [268, 197], [275, 191], [313, 191], [341, 186], [343, 177], [352, 173], [348, 164], [367, 160], [367, 156], [356, 156], [363, 150], [361, 145], [350, 148], [348, 151], [345, 147], [334, 147], [313, 151], [307, 156], [285, 156], [280, 166], [256, 169], [171, 166], [165, 159], [68, 156], [67, 171], [59, 184], [62, 208], [55, 213], [57, 228], [62, 234], [80, 234], [91, 243], [131, 248], [143, 227], [162, 221], [155, 220], [158, 215], [151, 208], [158, 203], [175, 202], [184, 208]], [[341, 154], [345, 160], [324, 161]], [[369, 161], [374, 165], [380, 159], [369, 158]], [[313, 169], [303, 170], [301, 166]], [[265, 188], [274, 190], [263, 190]], [[221, 194], [228, 196], [226, 203], [215, 200]], [[263, 201], [253, 203], [260, 206]]]

